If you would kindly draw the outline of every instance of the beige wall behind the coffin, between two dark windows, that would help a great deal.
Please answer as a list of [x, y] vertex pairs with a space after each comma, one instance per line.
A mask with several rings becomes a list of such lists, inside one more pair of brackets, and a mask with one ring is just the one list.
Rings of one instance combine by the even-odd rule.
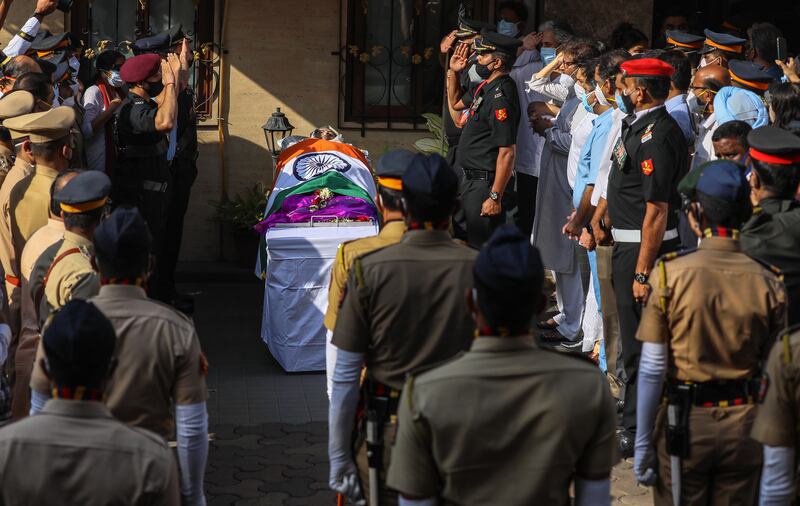
[[[222, 116], [227, 121], [225, 163], [232, 195], [256, 181], [272, 181], [272, 159], [261, 125], [280, 107], [295, 132], [337, 124], [339, 5], [334, 0], [231, 1], [223, 42]], [[345, 138], [376, 158], [386, 147], [408, 147], [421, 133], [345, 131]], [[219, 230], [207, 200], [220, 189], [216, 129], [200, 132], [200, 176], [190, 204], [183, 257], [219, 256]], [[230, 256], [227, 236], [223, 250]]]

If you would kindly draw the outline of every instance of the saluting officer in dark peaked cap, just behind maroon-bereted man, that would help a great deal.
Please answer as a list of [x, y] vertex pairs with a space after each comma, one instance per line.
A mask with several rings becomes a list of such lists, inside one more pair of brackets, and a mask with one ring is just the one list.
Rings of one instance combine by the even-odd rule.
[[181, 63], [177, 81], [177, 123], [169, 133], [170, 144], [167, 149], [172, 189], [164, 243], [164, 272], [170, 302], [184, 312], [191, 312], [193, 304], [190, 297], [179, 296], [175, 289], [175, 267], [183, 239], [183, 223], [189, 207], [189, 195], [197, 179], [198, 156], [197, 114], [194, 109], [194, 91], [189, 86], [189, 69], [194, 54], [189, 48], [189, 42], [190, 39], [183, 33], [181, 25], [176, 25], [165, 32], [139, 39], [133, 45], [136, 54], [156, 53], [165, 57], [169, 53], [174, 53], [178, 55]]

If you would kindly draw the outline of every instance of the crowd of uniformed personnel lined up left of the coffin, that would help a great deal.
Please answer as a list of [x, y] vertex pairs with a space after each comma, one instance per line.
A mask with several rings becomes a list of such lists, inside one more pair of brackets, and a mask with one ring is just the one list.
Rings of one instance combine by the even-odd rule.
[[174, 278], [189, 39], [94, 54], [41, 29], [58, 4], [0, 54], [0, 503], [202, 505], [208, 363]]

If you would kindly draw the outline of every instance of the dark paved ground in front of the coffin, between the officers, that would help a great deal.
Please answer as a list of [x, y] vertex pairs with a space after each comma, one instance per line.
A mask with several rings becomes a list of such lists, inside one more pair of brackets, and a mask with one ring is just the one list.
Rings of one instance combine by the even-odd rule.
[[[195, 322], [210, 362], [209, 505], [333, 506], [327, 486], [324, 374], [286, 374], [260, 338], [263, 285], [242, 271], [196, 276]], [[630, 463], [612, 476], [614, 504], [652, 504]]]

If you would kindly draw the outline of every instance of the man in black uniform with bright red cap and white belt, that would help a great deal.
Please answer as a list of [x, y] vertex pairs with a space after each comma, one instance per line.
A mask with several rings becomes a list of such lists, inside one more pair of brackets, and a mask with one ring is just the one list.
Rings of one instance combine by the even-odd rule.
[[[636, 383], [642, 345], [636, 340], [642, 304], [650, 287], [647, 276], [659, 255], [678, 249], [678, 181], [688, 171], [686, 138], [667, 113], [675, 69], [655, 58], [620, 65], [617, 104], [629, 114], [612, 150], [608, 214], [614, 252], [612, 282], [619, 310], [622, 356], [628, 377], [620, 451], [633, 454], [636, 433]], [[606, 224], [608, 225], [608, 224]]]

